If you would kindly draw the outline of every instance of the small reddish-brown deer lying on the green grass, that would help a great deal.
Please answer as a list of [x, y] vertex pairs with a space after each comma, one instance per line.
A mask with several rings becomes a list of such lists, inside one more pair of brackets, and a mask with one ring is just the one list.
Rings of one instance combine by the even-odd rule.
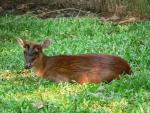
[[48, 39], [40, 43], [21, 38], [18, 44], [24, 50], [24, 68], [52, 82], [100, 83], [131, 75], [129, 64], [119, 56], [108, 54], [78, 54], [47, 56], [43, 49], [50, 45]]

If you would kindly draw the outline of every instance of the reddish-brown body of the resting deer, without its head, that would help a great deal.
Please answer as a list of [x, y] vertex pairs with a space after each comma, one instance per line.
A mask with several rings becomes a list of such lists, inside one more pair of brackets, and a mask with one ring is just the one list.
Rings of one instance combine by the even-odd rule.
[[60, 82], [99, 83], [110, 82], [120, 74], [131, 74], [125, 60], [111, 55], [42, 55], [39, 65], [35, 65], [38, 76]]

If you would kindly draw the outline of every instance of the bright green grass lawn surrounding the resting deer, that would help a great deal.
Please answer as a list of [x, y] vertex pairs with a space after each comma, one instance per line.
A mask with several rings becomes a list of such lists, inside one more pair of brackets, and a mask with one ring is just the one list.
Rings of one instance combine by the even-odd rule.
[[[111, 83], [69, 84], [41, 80], [23, 70], [16, 42], [51, 40], [47, 55], [107, 53], [121, 56], [131, 76]], [[119, 26], [97, 19], [41, 20], [32, 16], [0, 17], [0, 113], [149, 113], [150, 22]], [[43, 102], [38, 109], [32, 104]]]

